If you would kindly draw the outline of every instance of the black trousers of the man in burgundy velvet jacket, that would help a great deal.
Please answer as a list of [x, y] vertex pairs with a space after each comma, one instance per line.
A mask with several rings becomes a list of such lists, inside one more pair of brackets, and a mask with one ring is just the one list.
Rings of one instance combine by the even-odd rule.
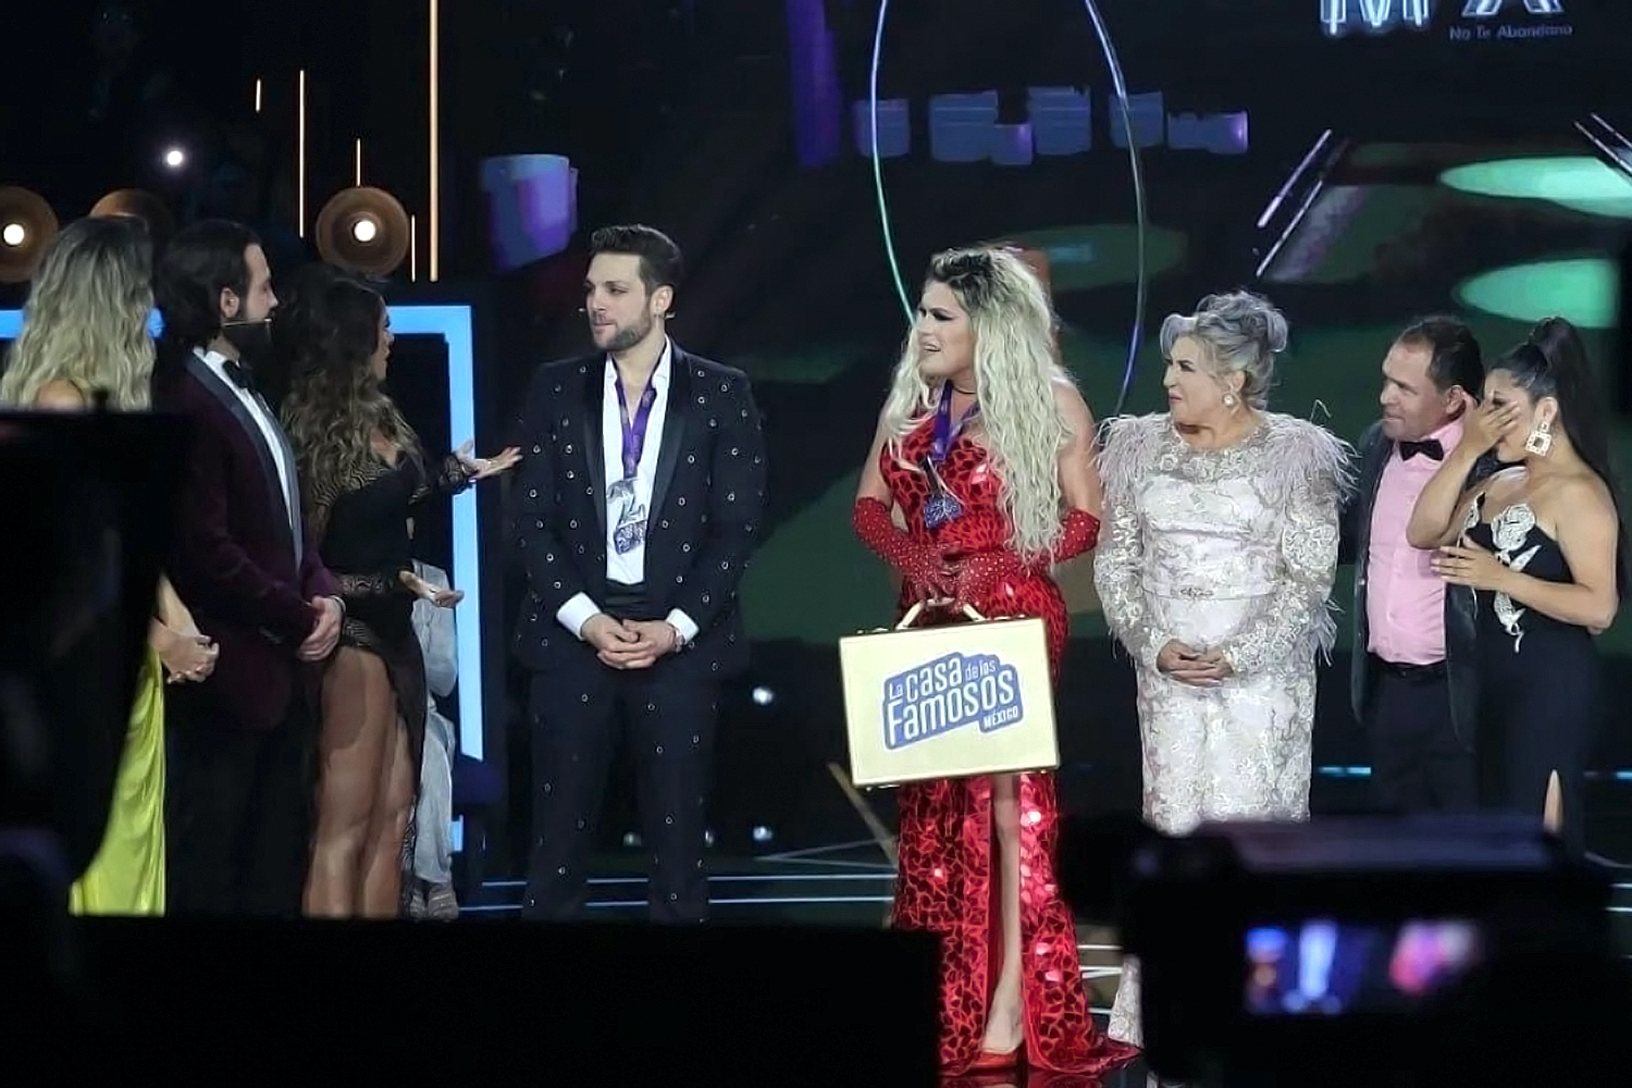
[[300, 917], [310, 865], [315, 714], [299, 693], [271, 732], [197, 692], [166, 700], [166, 912]]

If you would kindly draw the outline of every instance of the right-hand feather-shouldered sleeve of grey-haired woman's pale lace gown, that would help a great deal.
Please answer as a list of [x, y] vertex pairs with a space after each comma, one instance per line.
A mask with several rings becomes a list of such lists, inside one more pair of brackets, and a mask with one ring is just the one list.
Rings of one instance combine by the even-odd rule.
[[1273, 416], [1258, 488], [1279, 511], [1281, 577], [1219, 649], [1237, 675], [1307, 667], [1337, 643], [1332, 582], [1340, 511], [1353, 488], [1353, 450], [1325, 427]]

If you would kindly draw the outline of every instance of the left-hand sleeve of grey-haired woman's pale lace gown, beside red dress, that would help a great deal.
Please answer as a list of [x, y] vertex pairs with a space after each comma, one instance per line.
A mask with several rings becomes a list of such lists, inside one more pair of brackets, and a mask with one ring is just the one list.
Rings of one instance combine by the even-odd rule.
[[1162, 641], [1149, 625], [1144, 595], [1144, 519], [1139, 489], [1155, 468], [1165, 434], [1162, 416], [1121, 416], [1100, 426], [1100, 480], [1105, 517], [1093, 553], [1093, 589], [1105, 625], [1123, 649], [1147, 669], [1155, 667]]

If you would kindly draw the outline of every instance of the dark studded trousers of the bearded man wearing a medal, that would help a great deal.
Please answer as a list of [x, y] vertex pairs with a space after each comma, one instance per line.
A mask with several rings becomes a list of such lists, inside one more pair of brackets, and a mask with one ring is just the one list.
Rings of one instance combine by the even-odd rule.
[[705, 922], [703, 837], [718, 685], [707, 674], [672, 669], [679, 664], [672, 659], [632, 672], [594, 657], [586, 662], [583, 670], [532, 677], [534, 847], [522, 915], [550, 922], [581, 917], [607, 780], [623, 736], [650, 851], [651, 920]]

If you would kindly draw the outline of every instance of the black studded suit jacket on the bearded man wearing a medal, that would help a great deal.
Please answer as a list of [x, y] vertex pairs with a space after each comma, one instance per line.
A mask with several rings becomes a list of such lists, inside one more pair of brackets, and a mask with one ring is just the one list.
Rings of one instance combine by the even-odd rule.
[[[539, 369], [522, 416], [512, 537], [527, 573], [516, 657], [532, 672], [602, 669], [557, 620], [578, 594], [607, 594], [607, 480], [601, 437], [605, 356]], [[674, 344], [646, 522], [645, 586], [654, 618], [679, 608], [690, 646], [669, 672], [728, 677], [747, 667], [738, 587], [765, 509], [765, 442], [747, 375]]]

